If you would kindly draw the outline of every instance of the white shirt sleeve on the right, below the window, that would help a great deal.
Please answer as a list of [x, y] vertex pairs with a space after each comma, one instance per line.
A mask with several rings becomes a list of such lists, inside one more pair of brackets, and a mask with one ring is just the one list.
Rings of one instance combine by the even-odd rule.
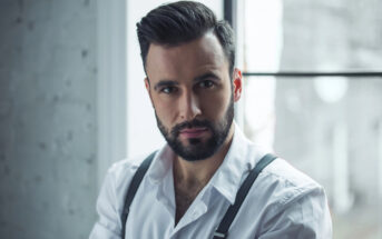
[[323, 188], [288, 191], [263, 226], [258, 239], [331, 239], [332, 220]]

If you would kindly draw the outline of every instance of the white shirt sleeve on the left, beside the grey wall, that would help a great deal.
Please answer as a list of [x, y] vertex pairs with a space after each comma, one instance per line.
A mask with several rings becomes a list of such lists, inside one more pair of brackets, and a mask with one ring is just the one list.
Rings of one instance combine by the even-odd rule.
[[98, 220], [89, 239], [120, 239], [121, 222], [116, 198], [112, 173], [108, 171], [97, 200]]

